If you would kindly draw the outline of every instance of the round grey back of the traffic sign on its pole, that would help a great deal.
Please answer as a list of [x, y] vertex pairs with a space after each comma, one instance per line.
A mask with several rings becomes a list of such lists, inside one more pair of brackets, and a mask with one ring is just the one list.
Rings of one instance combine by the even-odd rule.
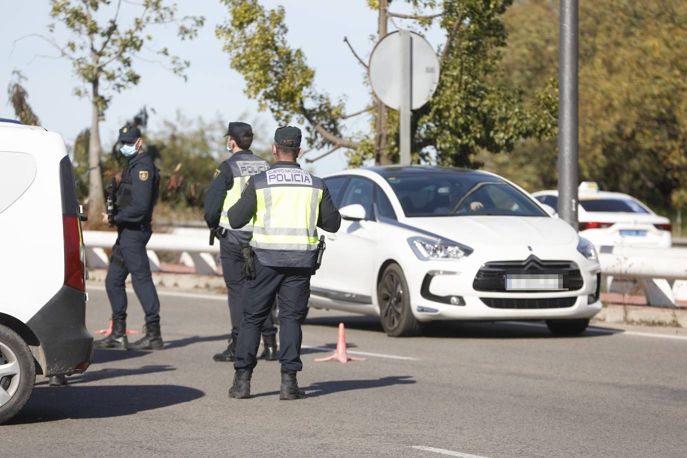
[[368, 75], [372, 90], [389, 108], [401, 108], [401, 76], [411, 71], [411, 106], [420, 108], [431, 98], [439, 84], [439, 59], [422, 35], [409, 32], [411, 37], [410, 67], [403, 69], [403, 43], [401, 34], [391, 32], [372, 49]]

